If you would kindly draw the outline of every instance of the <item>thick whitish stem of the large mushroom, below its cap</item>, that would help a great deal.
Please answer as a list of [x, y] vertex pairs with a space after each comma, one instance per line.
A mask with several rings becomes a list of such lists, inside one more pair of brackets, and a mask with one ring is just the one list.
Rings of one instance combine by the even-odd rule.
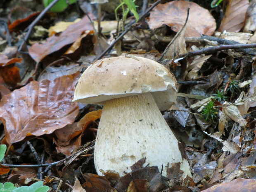
[[143, 157], [147, 165], [180, 165], [185, 178], [190, 166], [181, 155], [178, 140], [164, 120], [151, 92], [105, 101], [95, 143], [97, 173], [116, 171], [123, 176]]

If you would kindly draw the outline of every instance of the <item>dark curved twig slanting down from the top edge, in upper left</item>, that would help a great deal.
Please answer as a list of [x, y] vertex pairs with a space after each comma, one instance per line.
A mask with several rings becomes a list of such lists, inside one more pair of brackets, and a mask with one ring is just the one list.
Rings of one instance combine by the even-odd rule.
[[45, 9], [36, 17], [36, 19], [24, 30], [27, 31], [27, 34], [24, 38], [24, 41], [21, 43], [21, 45], [19, 46], [18, 51], [21, 52], [21, 48], [23, 47], [24, 43], [26, 43], [26, 41], [28, 40], [28, 38], [31, 35], [31, 32], [33, 30], [33, 27], [38, 23], [38, 21], [40, 21], [40, 19], [46, 14], [46, 12], [52, 8], [53, 5], [55, 5], [59, 0], [54, 0], [52, 1], [47, 7], [45, 7]]

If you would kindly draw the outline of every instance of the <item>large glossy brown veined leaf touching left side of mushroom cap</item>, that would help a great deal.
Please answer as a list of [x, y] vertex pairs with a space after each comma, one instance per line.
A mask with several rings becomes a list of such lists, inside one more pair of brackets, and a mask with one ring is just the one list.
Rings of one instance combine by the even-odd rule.
[[72, 102], [80, 72], [54, 81], [32, 81], [2, 97], [0, 120], [9, 144], [28, 135], [50, 134], [75, 121], [78, 104]]

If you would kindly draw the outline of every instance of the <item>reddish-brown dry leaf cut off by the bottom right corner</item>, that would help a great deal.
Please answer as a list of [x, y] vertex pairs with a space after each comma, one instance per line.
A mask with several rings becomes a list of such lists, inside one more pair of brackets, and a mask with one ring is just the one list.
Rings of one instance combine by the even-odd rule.
[[214, 185], [202, 192], [255, 192], [256, 180], [238, 178], [229, 183]]

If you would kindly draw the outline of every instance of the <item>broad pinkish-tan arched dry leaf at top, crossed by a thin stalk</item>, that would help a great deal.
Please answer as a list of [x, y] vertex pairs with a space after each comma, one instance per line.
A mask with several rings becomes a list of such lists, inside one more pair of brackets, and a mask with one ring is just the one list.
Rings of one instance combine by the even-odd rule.
[[[166, 24], [178, 32], [185, 23], [187, 8], [190, 14], [187, 21], [186, 37], [211, 36], [216, 29], [215, 19], [210, 12], [194, 2], [185, 0], [171, 1], [157, 5], [149, 16], [149, 28], [155, 29]], [[200, 21], [200, 22], [199, 22]]]

